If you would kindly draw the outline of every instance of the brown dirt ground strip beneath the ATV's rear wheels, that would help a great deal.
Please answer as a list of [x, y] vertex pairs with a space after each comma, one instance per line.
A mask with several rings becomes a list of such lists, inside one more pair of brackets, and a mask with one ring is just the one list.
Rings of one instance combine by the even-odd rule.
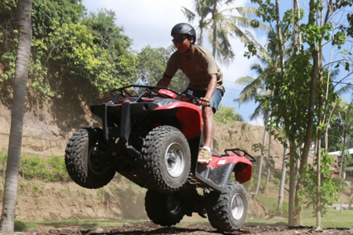
[[[95, 227], [85, 230], [81, 227], [55, 228], [55, 229], [26, 229], [23, 235], [217, 235], [222, 234], [211, 226], [189, 225], [185, 227], [160, 227], [152, 222], [125, 223], [121, 227]], [[353, 229], [329, 228], [322, 231], [315, 231], [312, 227], [296, 227], [289, 229], [287, 226], [260, 225], [256, 227], [242, 227], [238, 231], [226, 234], [353, 234]]]

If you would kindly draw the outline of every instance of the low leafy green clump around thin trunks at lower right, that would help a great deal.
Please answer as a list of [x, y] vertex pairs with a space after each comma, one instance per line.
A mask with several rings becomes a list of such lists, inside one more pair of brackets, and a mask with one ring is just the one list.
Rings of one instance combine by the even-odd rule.
[[[334, 179], [330, 177], [330, 165], [334, 162], [333, 156], [328, 155], [325, 151], [321, 151], [321, 186], [320, 190], [320, 210], [327, 209], [328, 205], [332, 205], [338, 200], [337, 186], [334, 183]], [[298, 178], [302, 179], [303, 190], [297, 192], [301, 197], [308, 197], [309, 201], [306, 202], [307, 205], [313, 206], [316, 209], [317, 200], [317, 184], [316, 184], [316, 166], [317, 158], [315, 158], [314, 165], [306, 164], [306, 172], [303, 175], [297, 175]]]

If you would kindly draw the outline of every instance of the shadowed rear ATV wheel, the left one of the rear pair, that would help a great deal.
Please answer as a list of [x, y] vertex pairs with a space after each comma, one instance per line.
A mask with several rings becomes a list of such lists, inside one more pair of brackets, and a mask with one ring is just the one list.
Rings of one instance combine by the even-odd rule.
[[148, 218], [162, 226], [175, 225], [184, 217], [180, 200], [175, 194], [161, 194], [151, 189], [146, 192], [145, 209]]

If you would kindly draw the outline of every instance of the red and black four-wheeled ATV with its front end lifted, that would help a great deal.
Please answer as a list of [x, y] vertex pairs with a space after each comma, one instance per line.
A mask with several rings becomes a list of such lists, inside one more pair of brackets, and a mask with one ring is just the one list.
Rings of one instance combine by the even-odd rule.
[[[223, 155], [213, 151], [208, 164], [197, 162], [198, 98], [154, 86], [131, 85], [110, 93], [113, 100], [90, 106], [102, 128], [80, 129], [68, 141], [65, 163], [72, 180], [99, 188], [118, 172], [148, 188], [145, 209], [156, 224], [175, 225], [198, 212], [207, 213], [220, 231], [240, 228], [248, 206], [240, 183], [250, 180], [255, 159], [242, 149], [226, 149]], [[237, 181], [230, 180], [232, 172]]]

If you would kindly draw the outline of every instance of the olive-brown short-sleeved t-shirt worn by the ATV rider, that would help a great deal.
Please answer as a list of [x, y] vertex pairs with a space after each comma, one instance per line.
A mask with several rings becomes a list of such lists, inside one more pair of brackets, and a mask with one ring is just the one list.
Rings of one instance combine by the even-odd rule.
[[213, 55], [209, 50], [199, 45], [194, 45], [195, 54], [193, 57], [181, 54], [175, 51], [169, 58], [164, 75], [172, 78], [180, 69], [189, 78], [189, 86], [187, 88], [193, 90], [205, 90], [210, 82], [210, 76], [217, 75], [217, 88], [222, 89], [223, 79], [222, 71], [216, 64]]

